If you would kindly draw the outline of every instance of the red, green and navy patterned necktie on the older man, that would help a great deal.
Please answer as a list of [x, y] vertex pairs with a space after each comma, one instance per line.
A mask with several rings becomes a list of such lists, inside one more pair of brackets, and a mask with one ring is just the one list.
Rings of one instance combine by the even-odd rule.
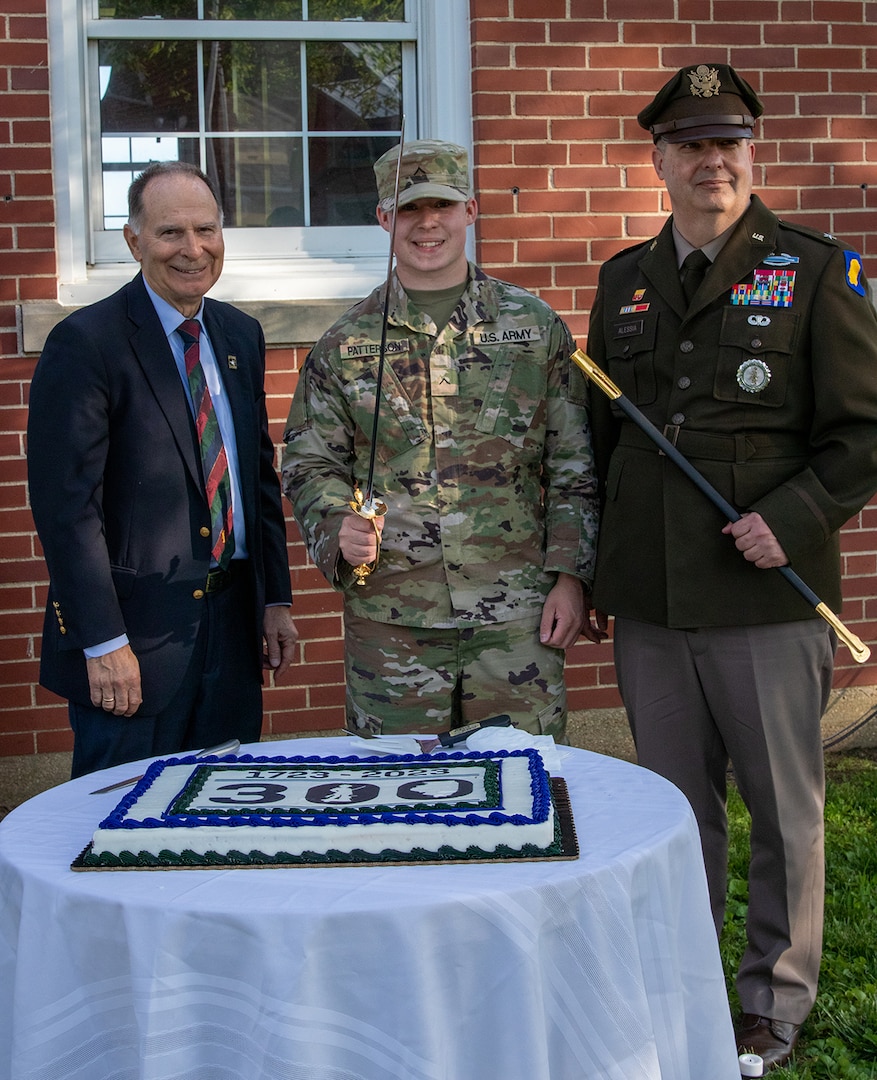
[[220, 569], [225, 569], [234, 554], [234, 534], [231, 521], [231, 477], [228, 458], [222, 445], [219, 421], [201, 366], [201, 323], [187, 319], [177, 326], [177, 334], [185, 346], [184, 359], [189, 390], [195, 411], [195, 430], [201, 447], [201, 465], [204, 489], [211, 511], [212, 554]]

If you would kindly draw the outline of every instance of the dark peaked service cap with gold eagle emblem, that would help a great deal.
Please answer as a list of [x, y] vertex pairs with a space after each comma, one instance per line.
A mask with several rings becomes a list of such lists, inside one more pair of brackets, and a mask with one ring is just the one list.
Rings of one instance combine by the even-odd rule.
[[640, 127], [667, 143], [699, 138], [752, 138], [765, 111], [758, 95], [727, 64], [682, 68], [636, 118]]

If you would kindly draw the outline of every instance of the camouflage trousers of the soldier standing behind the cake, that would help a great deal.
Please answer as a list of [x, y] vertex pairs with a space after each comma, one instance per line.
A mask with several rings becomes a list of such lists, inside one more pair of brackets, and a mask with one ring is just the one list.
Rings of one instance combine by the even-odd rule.
[[541, 644], [539, 622], [424, 630], [346, 611], [348, 730], [437, 733], [508, 713], [523, 731], [562, 741], [565, 652]]

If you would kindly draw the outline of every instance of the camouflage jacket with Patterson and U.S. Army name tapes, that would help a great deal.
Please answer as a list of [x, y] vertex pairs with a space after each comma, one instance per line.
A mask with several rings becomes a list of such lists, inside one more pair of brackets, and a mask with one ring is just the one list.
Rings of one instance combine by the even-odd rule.
[[354, 583], [338, 528], [367, 478], [383, 288], [314, 346], [289, 410], [283, 489], [318, 567], [356, 615], [409, 626], [538, 613], [558, 571], [590, 588], [596, 483], [569, 332], [472, 265], [437, 336], [392, 278], [374, 476], [388, 513]]

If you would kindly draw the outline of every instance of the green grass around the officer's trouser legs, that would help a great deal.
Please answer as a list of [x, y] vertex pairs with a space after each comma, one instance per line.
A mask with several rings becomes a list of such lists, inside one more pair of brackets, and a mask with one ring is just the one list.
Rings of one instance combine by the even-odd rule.
[[[795, 1056], [772, 1080], [877, 1080], [877, 753], [826, 754], [825, 933], [819, 995]], [[746, 915], [748, 814], [736, 789], [721, 960], [734, 1016], [733, 974]]]

